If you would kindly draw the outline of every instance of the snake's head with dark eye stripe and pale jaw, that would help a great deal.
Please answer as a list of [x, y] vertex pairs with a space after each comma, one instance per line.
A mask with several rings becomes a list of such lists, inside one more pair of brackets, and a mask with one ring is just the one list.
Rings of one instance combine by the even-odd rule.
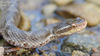
[[53, 33], [56, 36], [67, 36], [77, 31], [84, 29], [87, 25], [87, 21], [81, 18], [67, 19], [58, 23], [53, 29]]

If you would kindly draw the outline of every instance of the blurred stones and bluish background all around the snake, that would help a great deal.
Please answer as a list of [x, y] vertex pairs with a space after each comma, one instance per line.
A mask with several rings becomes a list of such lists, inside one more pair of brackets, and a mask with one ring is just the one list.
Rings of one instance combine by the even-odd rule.
[[13, 47], [1, 39], [0, 45], [7, 49], [5, 56], [100, 56], [100, 0], [19, 0], [19, 3], [22, 18], [26, 18], [24, 27], [19, 28], [25, 31], [38, 31], [76, 17], [87, 20], [88, 24], [76, 34], [36, 49]]

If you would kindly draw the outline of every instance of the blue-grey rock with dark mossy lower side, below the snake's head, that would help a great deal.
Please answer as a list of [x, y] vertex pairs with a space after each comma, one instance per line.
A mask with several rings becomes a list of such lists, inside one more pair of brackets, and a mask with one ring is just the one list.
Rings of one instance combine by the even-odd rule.
[[99, 44], [96, 42], [95, 36], [90, 34], [74, 34], [63, 41], [61, 50], [67, 53], [73, 50], [90, 52], [91, 48], [97, 48], [98, 46]]

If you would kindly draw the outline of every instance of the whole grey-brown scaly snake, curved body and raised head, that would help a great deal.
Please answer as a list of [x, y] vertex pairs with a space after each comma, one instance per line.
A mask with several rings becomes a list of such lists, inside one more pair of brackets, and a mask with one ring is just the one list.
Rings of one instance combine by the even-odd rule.
[[18, 0], [9, 1], [15, 2], [13, 3], [14, 6], [0, 8], [0, 33], [4, 40], [13, 46], [37, 48], [54, 39], [74, 34], [84, 29], [87, 25], [86, 20], [77, 17], [47, 25], [36, 32], [23, 31], [17, 27], [21, 16]]

